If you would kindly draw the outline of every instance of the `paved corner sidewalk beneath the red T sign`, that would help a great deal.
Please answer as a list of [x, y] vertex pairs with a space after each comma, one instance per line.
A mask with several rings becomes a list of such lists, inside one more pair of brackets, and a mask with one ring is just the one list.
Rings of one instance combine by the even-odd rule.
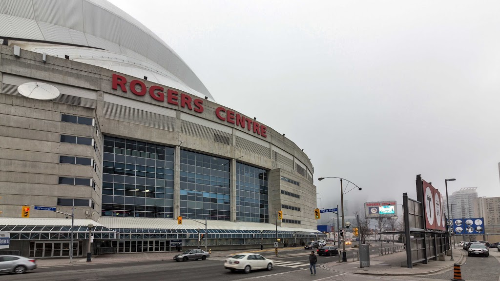
[[337, 272], [349, 272], [364, 275], [409, 276], [430, 274], [452, 269], [454, 263], [463, 264], [465, 256], [458, 250], [453, 251], [454, 261], [449, 259], [450, 257], [446, 256], [445, 261], [429, 260], [427, 264], [417, 262], [413, 264], [413, 268], [406, 268], [406, 266], [401, 267], [401, 262], [406, 261], [406, 251], [402, 251], [381, 256], [370, 256], [369, 267], [359, 268], [359, 261], [347, 261], [342, 263], [330, 262], [322, 265], [322, 267]]

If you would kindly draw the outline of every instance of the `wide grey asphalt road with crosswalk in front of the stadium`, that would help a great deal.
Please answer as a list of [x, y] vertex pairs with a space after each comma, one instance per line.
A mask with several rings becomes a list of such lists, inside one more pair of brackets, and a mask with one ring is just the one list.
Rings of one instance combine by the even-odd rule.
[[[376, 254], [378, 246], [370, 248], [371, 253]], [[347, 256], [357, 248], [347, 249]], [[107, 281], [107, 280], [240, 280], [257, 279], [273, 280], [283, 279], [303, 280], [303, 278], [317, 280], [329, 277], [331, 280], [356, 280], [356, 276], [346, 276], [337, 272], [328, 271], [321, 268], [321, 264], [338, 260], [337, 256], [318, 256], [316, 265], [317, 275], [310, 276], [308, 253], [303, 247], [280, 252], [279, 256], [274, 256], [272, 251], [259, 252], [269, 259], [275, 261], [276, 265], [271, 271], [258, 270], [249, 274], [242, 272], [230, 272], [223, 268], [224, 257], [211, 257], [207, 260], [175, 262], [173, 260], [164, 261], [144, 261], [117, 264], [89, 264], [77, 266], [37, 268], [24, 274], [1, 274], [0, 280], [36, 280], [36, 281]], [[333, 276], [338, 275], [338, 276]], [[336, 278], [339, 279], [336, 279]], [[357, 276], [359, 278], [359, 276]], [[380, 278], [378, 278], [380, 280]]]

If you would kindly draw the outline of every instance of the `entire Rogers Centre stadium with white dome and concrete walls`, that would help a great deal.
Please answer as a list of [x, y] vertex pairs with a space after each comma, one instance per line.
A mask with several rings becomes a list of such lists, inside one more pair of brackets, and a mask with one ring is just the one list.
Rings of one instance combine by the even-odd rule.
[[276, 228], [280, 247], [325, 237], [302, 149], [217, 103], [119, 7], [0, 0], [0, 43], [0, 253], [273, 247]]

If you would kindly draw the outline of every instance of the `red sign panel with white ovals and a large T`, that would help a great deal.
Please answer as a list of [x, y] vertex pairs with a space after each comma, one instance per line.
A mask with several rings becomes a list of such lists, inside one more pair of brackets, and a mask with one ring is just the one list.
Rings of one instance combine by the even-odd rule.
[[446, 223], [442, 211], [442, 195], [427, 181], [422, 180], [422, 183], [425, 228], [427, 230], [445, 231]]

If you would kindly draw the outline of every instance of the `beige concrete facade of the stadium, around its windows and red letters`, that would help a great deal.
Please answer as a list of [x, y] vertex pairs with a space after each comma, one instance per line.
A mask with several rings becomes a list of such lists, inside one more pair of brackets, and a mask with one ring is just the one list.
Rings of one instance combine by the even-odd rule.
[[[100, 216], [102, 186], [102, 135], [119, 136], [141, 141], [153, 142], [175, 147], [174, 173], [174, 217], [179, 208], [179, 150], [191, 150], [209, 155], [216, 155], [231, 160], [231, 221], [235, 215], [235, 163], [236, 161], [258, 166], [269, 171], [268, 201], [269, 222], [275, 210], [282, 209], [281, 204], [299, 207], [300, 211], [282, 209], [283, 217], [300, 221], [298, 223], [280, 223], [281, 226], [315, 229], [316, 221], [313, 209], [316, 206], [316, 187], [312, 182], [313, 167], [307, 155], [291, 140], [279, 132], [267, 127], [267, 137], [259, 136], [246, 128], [221, 121], [215, 114], [222, 105], [210, 100], [203, 100], [203, 112], [193, 112], [187, 107], [175, 106], [167, 102], [159, 102], [146, 94], [139, 96], [128, 90], [127, 93], [112, 88], [112, 75], [118, 74], [127, 79], [127, 89], [131, 80], [140, 80], [148, 88], [156, 86], [148, 80], [137, 79], [109, 69], [88, 65], [68, 59], [47, 56], [42, 61], [42, 54], [21, 50], [20, 57], [13, 55], [12, 46], [0, 46], [0, 192], [2, 216], [19, 217], [20, 206], [47, 205], [55, 206], [57, 197], [88, 198], [94, 202], [92, 207], [78, 207], [75, 217], [87, 217], [98, 220]], [[95, 106], [68, 104], [72, 101], [33, 100], [18, 95], [16, 85], [5, 82], [5, 77], [13, 79], [44, 81], [50, 84], [65, 85], [76, 93], [63, 92], [69, 97], [77, 96], [79, 91], [86, 90], [95, 95]], [[165, 88], [174, 89], [167, 85]], [[176, 89], [174, 89], [176, 90]], [[166, 91], [166, 89], [165, 89]], [[179, 96], [182, 92], [179, 91]], [[183, 93], [191, 99], [197, 96]], [[127, 101], [138, 101], [140, 104], [153, 106], [155, 110], [174, 110], [175, 117], [172, 130], [159, 128], [159, 125], [148, 125], [150, 120], [137, 117], [137, 120], [111, 118], [104, 116], [106, 97], [118, 96]], [[83, 100], [83, 98], [81, 98]], [[91, 99], [91, 98], [90, 98]], [[166, 99], [166, 94], [165, 94]], [[93, 102], [93, 101], [92, 101]], [[152, 107], [151, 107], [152, 108]], [[230, 108], [224, 107], [227, 110]], [[235, 110], [233, 110], [235, 111]], [[95, 126], [61, 122], [61, 113], [94, 118]], [[208, 120], [207, 126], [224, 126], [232, 131], [230, 144], [197, 136], [195, 132], [182, 130], [182, 116], [193, 116], [199, 120]], [[186, 117], [186, 118], [187, 118]], [[191, 117], [192, 118], [192, 117]], [[60, 135], [77, 135], [91, 137], [96, 148], [90, 145], [60, 142]], [[238, 141], [240, 141], [238, 143]], [[243, 145], [241, 143], [250, 143]], [[260, 144], [265, 145], [260, 145]], [[255, 146], [261, 151], [256, 153]], [[262, 150], [263, 149], [263, 150]], [[283, 158], [286, 154], [288, 158]], [[61, 164], [59, 155], [91, 157], [92, 166]], [[305, 167], [305, 171], [303, 169]], [[302, 174], [301, 174], [302, 173]], [[96, 184], [93, 187], [60, 185], [58, 176], [74, 176], [91, 178]], [[299, 185], [280, 179], [280, 176], [291, 178]], [[281, 189], [296, 193], [295, 198], [281, 193]], [[71, 207], [60, 207], [70, 211]], [[31, 211], [31, 217], [61, 217], [48, 211]]]

